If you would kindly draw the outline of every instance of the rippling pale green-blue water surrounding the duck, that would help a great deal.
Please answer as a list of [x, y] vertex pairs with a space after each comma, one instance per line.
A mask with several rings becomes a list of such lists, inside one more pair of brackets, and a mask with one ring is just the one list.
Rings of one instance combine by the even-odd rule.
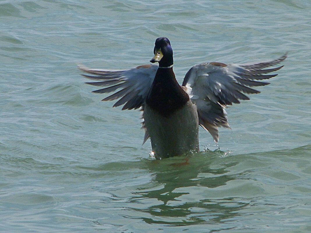
[[[310, 232], [311, 3], [1, 1], [0, 232]], [[228, 109], [220, 150], [151, 160], [138, 111], [102, 103], [77, 63], [148, 64], [170, 39], [181, 83], [201, 62], [289, 51]]]

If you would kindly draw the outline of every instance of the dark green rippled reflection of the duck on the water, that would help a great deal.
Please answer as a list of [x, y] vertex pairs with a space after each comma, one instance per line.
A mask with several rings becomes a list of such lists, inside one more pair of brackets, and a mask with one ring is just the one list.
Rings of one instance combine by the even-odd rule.
[[227, 153], [216, 150], [189, 157], [144, 161], [154, 175], [154, 187], [139, 187], [133, 194], [138, 194], [141, 198], [132, 198], [131, 202], [149, 199], [156, 200], [156, 204], [139, 210], [150, 216], [143, 217], [143, 221], [185, 226], [218, 223], [235, 217], [235, 212], [248, 203], [236, 202], [231, 197], [218, 199], [209, 194], [204, 195], [208, 189], [226, 185], [241, 175], [230, 174], [230, 167], [238, 162], [228, 162], [224, 158], [219, 163], [221, 157], [229, 158]]

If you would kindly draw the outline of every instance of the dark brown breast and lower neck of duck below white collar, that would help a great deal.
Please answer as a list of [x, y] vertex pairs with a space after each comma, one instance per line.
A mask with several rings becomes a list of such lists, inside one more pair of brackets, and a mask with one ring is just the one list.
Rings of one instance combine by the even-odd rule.
[[162, 116], [169, 117], [188, 100], [189, 96], [178, 84], [173, 68], [159, 67], [146, 98], [146, 104]]

